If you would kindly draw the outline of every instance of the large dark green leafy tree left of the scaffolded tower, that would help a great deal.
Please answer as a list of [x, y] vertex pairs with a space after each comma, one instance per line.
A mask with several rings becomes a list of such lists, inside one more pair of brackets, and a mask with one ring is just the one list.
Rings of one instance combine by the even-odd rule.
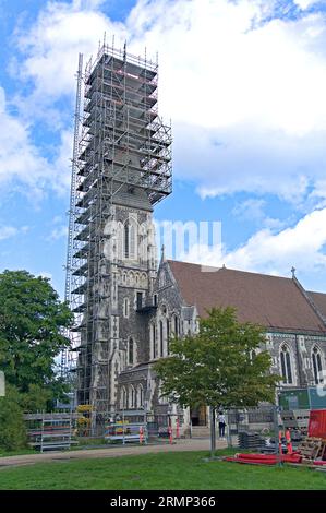
[[0, 274], [0, 370], [27, 404], [37, 402], [37, 390], [45, 401], [62, 396], [56, 357], [70, 345], [64, 329], [71, 323], [72, 313], [48, 278], [27, 271]]

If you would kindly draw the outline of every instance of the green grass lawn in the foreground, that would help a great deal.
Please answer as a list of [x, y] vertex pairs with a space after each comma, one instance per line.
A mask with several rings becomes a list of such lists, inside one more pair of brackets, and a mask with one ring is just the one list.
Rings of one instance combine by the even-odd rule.
[[[221, 454], [221, 452], [219, 452]], [[0, 469], [1, 490], [326, 490], [298, 467], [204, 462], [205, 452], [143, 454]]]

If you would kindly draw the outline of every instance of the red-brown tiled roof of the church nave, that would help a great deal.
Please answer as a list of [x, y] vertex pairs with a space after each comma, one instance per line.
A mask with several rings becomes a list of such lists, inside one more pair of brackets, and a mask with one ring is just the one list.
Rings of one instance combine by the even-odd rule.
[[323, 321], [291, 278], [202, 267], [173, 260], [168, 263], [185, 303], [195, 305], [201, 317], [207, 315], [207, 309], [213, 307], [232, 306], [240, 322], [251, 321], [275, 330], [326, 333]]

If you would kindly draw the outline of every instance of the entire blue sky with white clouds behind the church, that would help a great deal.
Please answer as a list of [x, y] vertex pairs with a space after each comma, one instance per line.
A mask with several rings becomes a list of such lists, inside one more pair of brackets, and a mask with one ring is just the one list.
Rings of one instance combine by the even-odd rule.
[[0, 32], [0, 270], [63, 291], [77, 53], [106, 32], [159, 53], [174, 180], [155, 217], [220, 220], [203, 262], [326, 291], [325, 1], [2, 0]]

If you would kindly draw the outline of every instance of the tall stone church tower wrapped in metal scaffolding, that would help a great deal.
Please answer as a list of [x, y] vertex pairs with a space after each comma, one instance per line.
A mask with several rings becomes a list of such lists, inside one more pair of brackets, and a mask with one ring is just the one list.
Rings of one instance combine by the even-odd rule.
[[93, 432], [117, 405], [117, 379], [140, 358], [136, 313], [157, 273], [153, 207], [171, 192], [171, 128], [157, 111], [157, 63], [106, 44], [82, 73], [75, 131], [71, 305], [77, 401]]

